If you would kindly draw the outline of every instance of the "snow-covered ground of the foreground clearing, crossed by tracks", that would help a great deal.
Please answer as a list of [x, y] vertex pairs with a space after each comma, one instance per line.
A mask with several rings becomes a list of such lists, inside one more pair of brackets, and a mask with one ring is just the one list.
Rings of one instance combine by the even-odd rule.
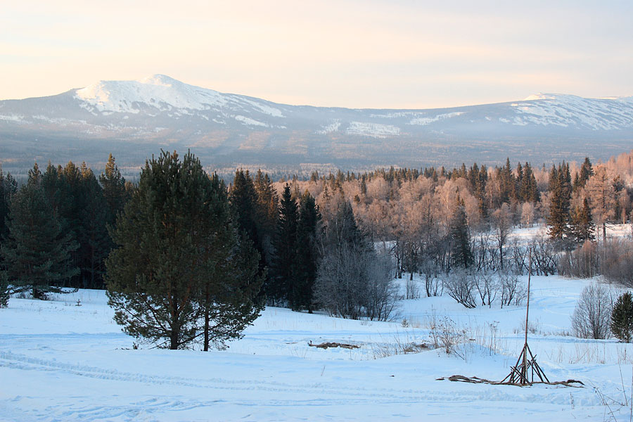
[[[525, 307], [402, 300], [390, 323], [269, 307], [229, 350], [200, 352], [134, 350], [102, 291], [12, 298], [0, 309], [0, 420], [613, 421], [613, 411], [628, 421], [631, 410], [618, 402], [632, 402], [632, 346], [566, 334], [589, 282], [532, 277], [530, 306], [529, 343], [546, 375], [584, 388], [437, 381], [504, 378], [523, 346]], [[430, 343], [433, 315], [466, 330], [462, 357], [402, 354], [410, 343]], [[309, 346], [330, 341], [360, 347]]]

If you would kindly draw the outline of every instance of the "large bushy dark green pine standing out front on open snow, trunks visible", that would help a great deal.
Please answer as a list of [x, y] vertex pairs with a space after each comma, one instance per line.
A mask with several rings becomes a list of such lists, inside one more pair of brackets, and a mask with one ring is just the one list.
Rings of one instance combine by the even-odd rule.
[[191, 153], [146, 162], [106, 260], [108, 303], [126, 333], [172, 350], [203, 335], [207, 350], [257, 317], [257, 253], [238, 247], [222, 186]]

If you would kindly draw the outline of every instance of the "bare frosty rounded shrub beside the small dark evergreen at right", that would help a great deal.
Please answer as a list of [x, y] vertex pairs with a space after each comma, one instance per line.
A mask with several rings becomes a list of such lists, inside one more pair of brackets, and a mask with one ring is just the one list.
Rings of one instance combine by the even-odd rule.
[[594, 283], [582, 289], [572, 315], [574, 335], [579, 338], [608, 338], [611, 309], [613, 302], [604, 286]]

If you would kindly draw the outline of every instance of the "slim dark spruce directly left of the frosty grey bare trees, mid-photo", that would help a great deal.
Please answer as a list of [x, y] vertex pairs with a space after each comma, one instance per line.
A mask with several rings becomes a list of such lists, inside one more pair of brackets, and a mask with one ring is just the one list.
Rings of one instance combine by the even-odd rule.
[[312, 313], [314, 281], [316, 280], [319, 248], [317, 245], [321, 214], [312, 195], [305, 191], [299, 203], [295, 284], [292, 300], [295, 309]]

